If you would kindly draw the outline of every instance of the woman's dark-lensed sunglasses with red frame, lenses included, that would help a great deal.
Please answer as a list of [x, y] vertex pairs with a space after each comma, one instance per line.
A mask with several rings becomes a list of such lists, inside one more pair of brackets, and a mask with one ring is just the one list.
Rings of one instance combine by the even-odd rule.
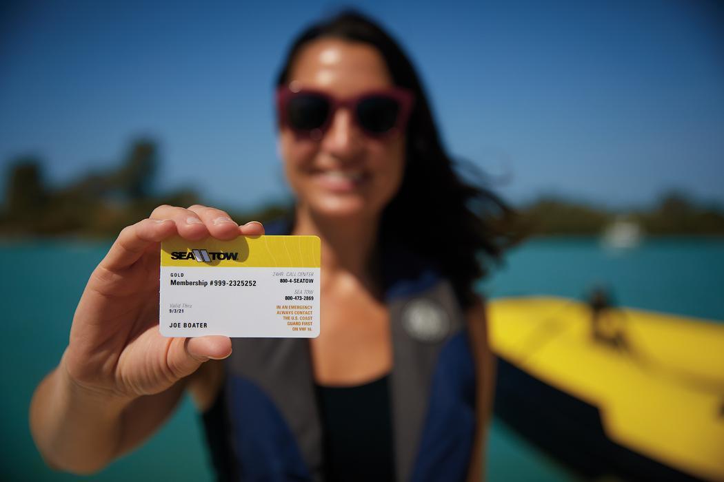
[[319, 140], [327, 132], [334, 112], [345, 107], [353, 121], [370, 137], [403, 132], [413, 104], [409, 90], [393, 87], [373, 90], [353, 98], [337, 99], [320, 90], [277, 90], [279, 121], [301, 137]]

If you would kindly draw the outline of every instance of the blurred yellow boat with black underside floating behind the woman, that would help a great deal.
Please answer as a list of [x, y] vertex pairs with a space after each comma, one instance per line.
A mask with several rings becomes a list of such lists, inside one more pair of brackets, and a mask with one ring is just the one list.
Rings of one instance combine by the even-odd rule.
[[724, 481], [724, 324], [566, 298], [489, 302], [496, 413], [588, 476]]

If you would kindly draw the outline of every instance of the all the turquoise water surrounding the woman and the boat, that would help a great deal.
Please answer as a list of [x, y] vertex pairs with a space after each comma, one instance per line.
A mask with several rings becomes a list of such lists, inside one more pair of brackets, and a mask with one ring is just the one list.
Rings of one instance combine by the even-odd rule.
[[[109, 244], [36, 241], [0, 244], [0, 288], [6, 344], [0, 361], [0, 451], [3, 480], [75, 480], [46, 468], [28, 429], [35, 385], [67, 343], [85, 281]], [[486, 283], [489, 297], [550, 294], [581, 298], [595, 284], [613, 289], [624, 306], [724, 320], [724, 240], [667, 238], [612, 252], [590, 238], [547, 238], [513, 250]], [[500, 421], [489, 439], [492, 481], [557, 481], [573, 476], [536, 452]], [[185, 399], [153, 439], [93, 475], [98, 481], [169, 477], [209, 480], [201, 423]]]

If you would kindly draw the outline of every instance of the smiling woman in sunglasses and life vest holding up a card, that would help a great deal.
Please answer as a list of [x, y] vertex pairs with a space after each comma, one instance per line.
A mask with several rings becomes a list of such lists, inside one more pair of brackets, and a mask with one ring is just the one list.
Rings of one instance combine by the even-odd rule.
[[507, 208], [460, 181], [413, 66], [365, 17], [306, 30], [277, 87], [297, 202], [274, 233], [321, 238], [321, 335], [161, 337], [159, 242], [264, 227], [158, 207], [90, 276], [31, 403], [35, 443], [50, 465], [92, 473], [190, 390], [219, 478], [479, 480], [493, 367], [473, 282], [476, 256], [500, 255], [492, 217]]

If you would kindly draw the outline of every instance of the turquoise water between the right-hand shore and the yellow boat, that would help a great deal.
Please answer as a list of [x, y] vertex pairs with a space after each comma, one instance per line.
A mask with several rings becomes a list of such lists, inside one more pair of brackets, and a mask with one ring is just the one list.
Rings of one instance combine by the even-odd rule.
[[488, 296], [584, 298], [594, 285], [615, 303], [724, 320], [724, 238], [659, 238], [603, 249], [593, 238], [544, 238], [513, 250], [481, 287]]

